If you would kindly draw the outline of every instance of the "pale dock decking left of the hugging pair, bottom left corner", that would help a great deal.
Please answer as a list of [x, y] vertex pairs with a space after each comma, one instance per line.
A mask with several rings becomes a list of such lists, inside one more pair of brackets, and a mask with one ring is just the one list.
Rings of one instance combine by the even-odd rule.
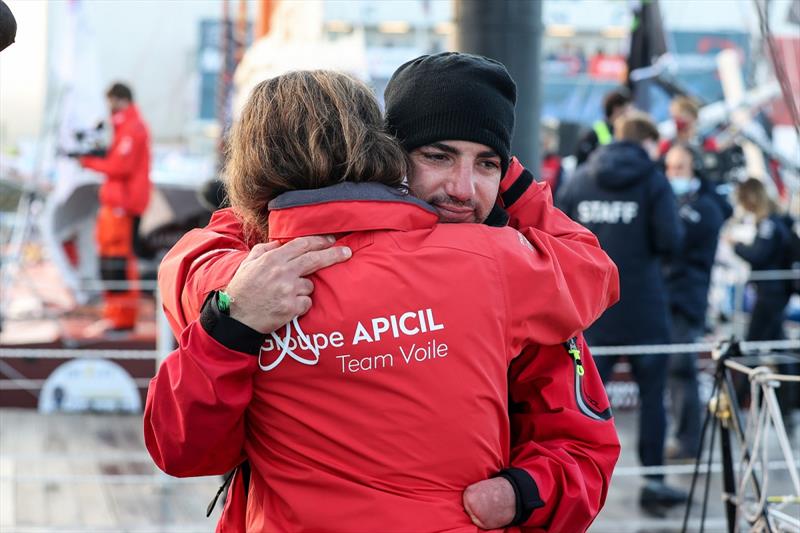
[[153, 465], [140, 416], [0, 410], [0, 531], [212, 532], [217, 477]]

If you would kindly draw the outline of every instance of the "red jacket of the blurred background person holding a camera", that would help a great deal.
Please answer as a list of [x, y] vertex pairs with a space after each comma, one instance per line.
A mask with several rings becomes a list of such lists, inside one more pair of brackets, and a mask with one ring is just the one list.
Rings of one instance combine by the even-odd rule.
[[100, 203], [138, 216], [150, 200], [150, 134], [131, 104], [111, 117], [114, 138], [106, 157], [81, 157], [81, 165], [102, 172]]

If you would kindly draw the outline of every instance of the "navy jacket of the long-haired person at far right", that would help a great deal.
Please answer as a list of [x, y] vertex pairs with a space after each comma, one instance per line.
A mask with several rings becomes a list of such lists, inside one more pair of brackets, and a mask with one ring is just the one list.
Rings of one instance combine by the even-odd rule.
[[[753, 270], [783, 270], [787, 268], [789, 253], [789, 226], [780, 215], [772, 214], [758, 223], [756, 238], [750, 245], [737, 244], [736, 254], [750, 263]], [[613, 259], [613, 258], [612, 258]], [[755, 283], [758, 296], [788, 294], [786, 281], [759, 281]]]

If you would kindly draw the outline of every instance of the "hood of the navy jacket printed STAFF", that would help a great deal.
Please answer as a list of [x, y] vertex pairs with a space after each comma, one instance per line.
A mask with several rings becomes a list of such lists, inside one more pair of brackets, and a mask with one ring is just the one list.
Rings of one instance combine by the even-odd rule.
[[644, 148], [628, 141], [601, 146], [587, 165], [604, 189], [626, 189], [649, 176], [655, 167]]

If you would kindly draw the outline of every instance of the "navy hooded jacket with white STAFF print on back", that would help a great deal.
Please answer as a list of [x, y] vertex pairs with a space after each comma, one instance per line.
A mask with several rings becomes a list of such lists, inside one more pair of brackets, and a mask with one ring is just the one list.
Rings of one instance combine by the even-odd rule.
[[558, 205], [589, 228], [617, 264], [620, 301], [586, 338], [595, 345], [670, 340], [661, 257], [683, 239], [675, 195], [667, 178], [636, 143], [602, 146], [564, 184]]

